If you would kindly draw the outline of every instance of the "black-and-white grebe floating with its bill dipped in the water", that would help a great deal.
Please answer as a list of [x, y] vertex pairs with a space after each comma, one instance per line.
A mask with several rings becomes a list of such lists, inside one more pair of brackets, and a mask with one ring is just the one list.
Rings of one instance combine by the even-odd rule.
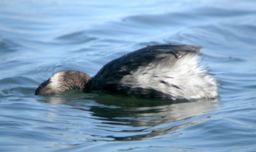
[[145, 99], [214, 99], [218, 84], [199, 66], [201, 46], [154, 45], [106, 64], [93, 77], [80, 71], [60, 71], [44, 81], [35, 95], [67, 90], [103, 92]]

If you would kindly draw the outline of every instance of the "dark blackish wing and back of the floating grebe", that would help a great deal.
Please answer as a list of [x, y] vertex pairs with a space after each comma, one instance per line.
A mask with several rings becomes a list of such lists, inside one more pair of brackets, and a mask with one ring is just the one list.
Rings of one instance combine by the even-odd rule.
[[[118, 59], [112, 60], [106, 64], [100, 71], [93, 76], [90, 82], [89, 90], [118, 90], [127, 88], [120, 84], [120, 79], [125, 75], [131, 74], [131, 71], [141, 66], [148, 66], [151, 62], [161, 62], [166, 57], [173, 62], [186, 53], [199, 52], [201, 46], [193, 45], [154, 45], [141, 48], [128, 53]], [[126, 89], [124, 89], [126, 90]]]

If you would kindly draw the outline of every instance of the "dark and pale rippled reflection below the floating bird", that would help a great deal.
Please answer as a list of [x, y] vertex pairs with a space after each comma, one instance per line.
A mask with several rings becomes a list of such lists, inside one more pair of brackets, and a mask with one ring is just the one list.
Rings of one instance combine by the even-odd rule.
[[[71, 94], [70, 94], [71, 93]], [[86, 98], [86, 99], [84, 99]], [[91, 100], [88, 100], [91, 99]], [[67, 104], [81, 113], [90, 113], [89, 118], [100, 120], [95, 128], [108, 135], [97, 135], [102, 140], [136, 141], [161, 137], [177, 129], [206, 121], [209, 117], [186, 121], [211, 111], [218, 99], [196, 100], [194, 102], [140, 100], [113, 97], [111, 95], [62, 93], [47, 97], [45, 102]], [[183, 120], [183, 121], [182, 121]], [[90, 134], [90, 132], [86, 133]]]

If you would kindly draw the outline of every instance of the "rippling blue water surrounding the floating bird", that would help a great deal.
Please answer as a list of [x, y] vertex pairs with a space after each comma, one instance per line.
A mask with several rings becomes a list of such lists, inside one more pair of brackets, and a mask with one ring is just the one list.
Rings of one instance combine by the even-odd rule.
[[[0, 151], [256, 151], [256, 1], [0, 1]], [[159, 43], [204, 46], [220, 99], [34, 95]]]

